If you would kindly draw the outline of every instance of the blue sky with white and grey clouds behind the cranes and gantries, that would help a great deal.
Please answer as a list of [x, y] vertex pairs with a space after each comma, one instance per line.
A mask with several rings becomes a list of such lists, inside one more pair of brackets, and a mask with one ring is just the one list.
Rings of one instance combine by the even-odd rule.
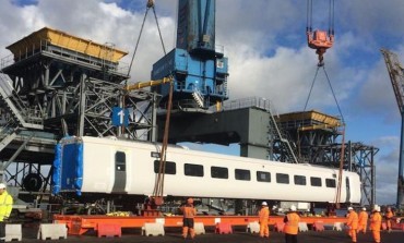
[[[5, 47], [44, 26], [97, 42], [114, 42], [130, 52], [138, 38], [146, 0], [0, 0], [0, 57]], [[328, 29], [328, 2], [313, 0], [312, 27]], [[156, 0], [166, 49], [175, 44], [176, 0]], [[306, 1], [217, 0], [216, 45], [229, 58], [230, 99], [271, 99], [276, 112], [304, 109], [316, 72], [317, 56], [307, 47]], [[346, 122], [346, 139], [380, 148], [376, 157], [377, 202], [396, 201], [401, 116], [380, 48], [404, 62], [402, 0], [335, 1], [335, 44], [325, 69]], [[153, 14], [145, 23], [132, 68], [132, 80], [150, 78], [163, 56]], [[321, 73], [320, 73], [321, 74]], [[323, 75], [316, 81], [309, 109], [338, 114]], [[237, 154], [231, 147], [192, 146]]]

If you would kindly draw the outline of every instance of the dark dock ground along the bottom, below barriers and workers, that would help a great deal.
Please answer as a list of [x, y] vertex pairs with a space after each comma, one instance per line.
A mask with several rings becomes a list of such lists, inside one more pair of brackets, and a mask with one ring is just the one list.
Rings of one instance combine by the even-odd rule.
[[[97, 238], [95, 231], [87, 232], [84, 235], [68, 235], [63, 240], [37, 240], [37, 231], [33, 228], [23, 228], [22, 242], [131, 242], [131, 243], [177, 243], [177, 242], [192, 242], [192, 243], [284, 243], [284, 234], [281, 232], [270, 232], [269, 239], [260, 238], [257, 233], [247, 233], [245, 230], [236, 230], [231, 234], [217, 234], [213, 230], [206, 230], [205, 234], [199, 234], [194, 240], [183, 240], [181, 236], [181, 229], [169, 229], [164, 236], [145, 236], [141, 235], [140, 229], [124, 229], [121, 238]], [[350, 243], [345, 231], [325, 230], [321, 232], [308, 231], [298, 234], [299, 243]], [[357, 238], [358, 243], [373, 243], [371, 232], [366, 234], [359, 233]], [[404, 243], [404, 231], [392, 231], [391, 233], [381, 232], [382, 243]]]

